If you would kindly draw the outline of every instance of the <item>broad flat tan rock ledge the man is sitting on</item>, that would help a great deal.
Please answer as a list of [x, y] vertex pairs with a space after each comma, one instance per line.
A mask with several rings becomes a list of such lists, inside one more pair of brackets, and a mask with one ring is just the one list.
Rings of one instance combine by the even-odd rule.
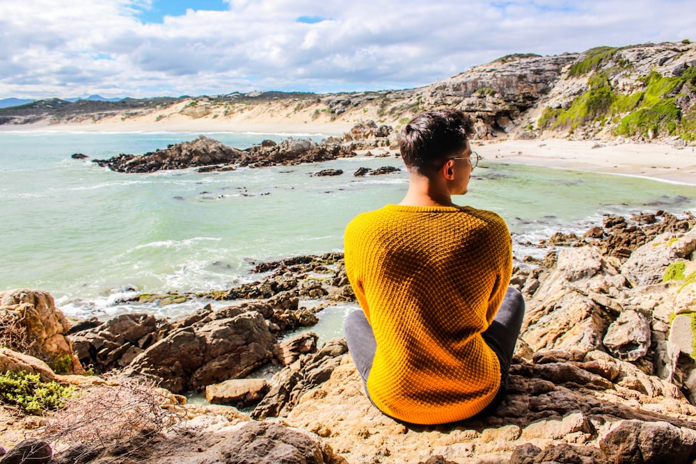
[[[328, 381], [299, 399], [285, 422], [317, 433], [351, 463], [374, 458], [393, 463], [629, 462], [615, 461], [619, 453], [600, 448], [609, 431], [628, 421], [656, 435], [641, 438], [640, 456], [661, 456], [663, 442], [691, 449], [696, 408], [670, 384], [602, 351], [547, 351], [537, 359], [514, 358], [507, 397], [496, 410], [454, 424], [417, 426], [374, 408], [354, 363], [345, 357]], [[643, 382], [647, 387], [641, 394], [623, 386]], [[658, 430], [653, 424], [660, 424]], [[646, 462], [671, 462], [661, 459]]]

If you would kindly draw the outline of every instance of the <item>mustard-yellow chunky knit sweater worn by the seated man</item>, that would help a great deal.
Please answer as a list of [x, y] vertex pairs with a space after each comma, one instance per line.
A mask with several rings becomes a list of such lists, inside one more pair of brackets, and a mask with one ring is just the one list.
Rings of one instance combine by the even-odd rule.
[[367, 391], [380, 410], [445, 424], [493, 400], [500, 364], [481, 333], [512, 272], [503, 218], [471, 207], [386, 205], [349, 223], [345, 265], [377, 340]]

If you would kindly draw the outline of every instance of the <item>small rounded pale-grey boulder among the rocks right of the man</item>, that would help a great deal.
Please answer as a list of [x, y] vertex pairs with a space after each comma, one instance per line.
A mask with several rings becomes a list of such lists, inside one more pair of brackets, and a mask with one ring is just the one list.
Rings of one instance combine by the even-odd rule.
[[617, 358], [635, 361], [650, 347], [650, 324], [642, 314], [624, 311], [610, 324], [603, 344]]

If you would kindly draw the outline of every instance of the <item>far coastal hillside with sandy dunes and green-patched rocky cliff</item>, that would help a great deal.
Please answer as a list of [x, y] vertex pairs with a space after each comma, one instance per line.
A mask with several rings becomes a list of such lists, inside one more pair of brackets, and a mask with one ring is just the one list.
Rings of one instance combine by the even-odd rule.
[[667, 139], [696, 138], [696, 44], [665, 42], [597, 47], [580, 54], [513, 54], [430, 86], [408, 90], [315, 95], [227, 95], [123, 99], [120, 102], [41, 100], [0, 109], [0, 125], [144, 125], [235, 127], [273, 125], [301, 131], [345, 131], [374, 120], [395, 128], [434, 108], [472, 115], [476, 137]]

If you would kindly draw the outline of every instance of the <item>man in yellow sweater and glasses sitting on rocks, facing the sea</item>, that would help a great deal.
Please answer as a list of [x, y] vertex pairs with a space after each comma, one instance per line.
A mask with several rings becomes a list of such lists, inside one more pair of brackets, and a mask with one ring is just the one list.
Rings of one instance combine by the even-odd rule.
[[512, 240], [500, 216], [459, 207], [478, 155], [470, 120], [428, 111], [404, 127], [409, 189], [345, 232], [345, 266], [362, 311], [349, 351], [370, 401], [414, 424], [471, 417], [503, 399], [524, 314], [508, 288]]

